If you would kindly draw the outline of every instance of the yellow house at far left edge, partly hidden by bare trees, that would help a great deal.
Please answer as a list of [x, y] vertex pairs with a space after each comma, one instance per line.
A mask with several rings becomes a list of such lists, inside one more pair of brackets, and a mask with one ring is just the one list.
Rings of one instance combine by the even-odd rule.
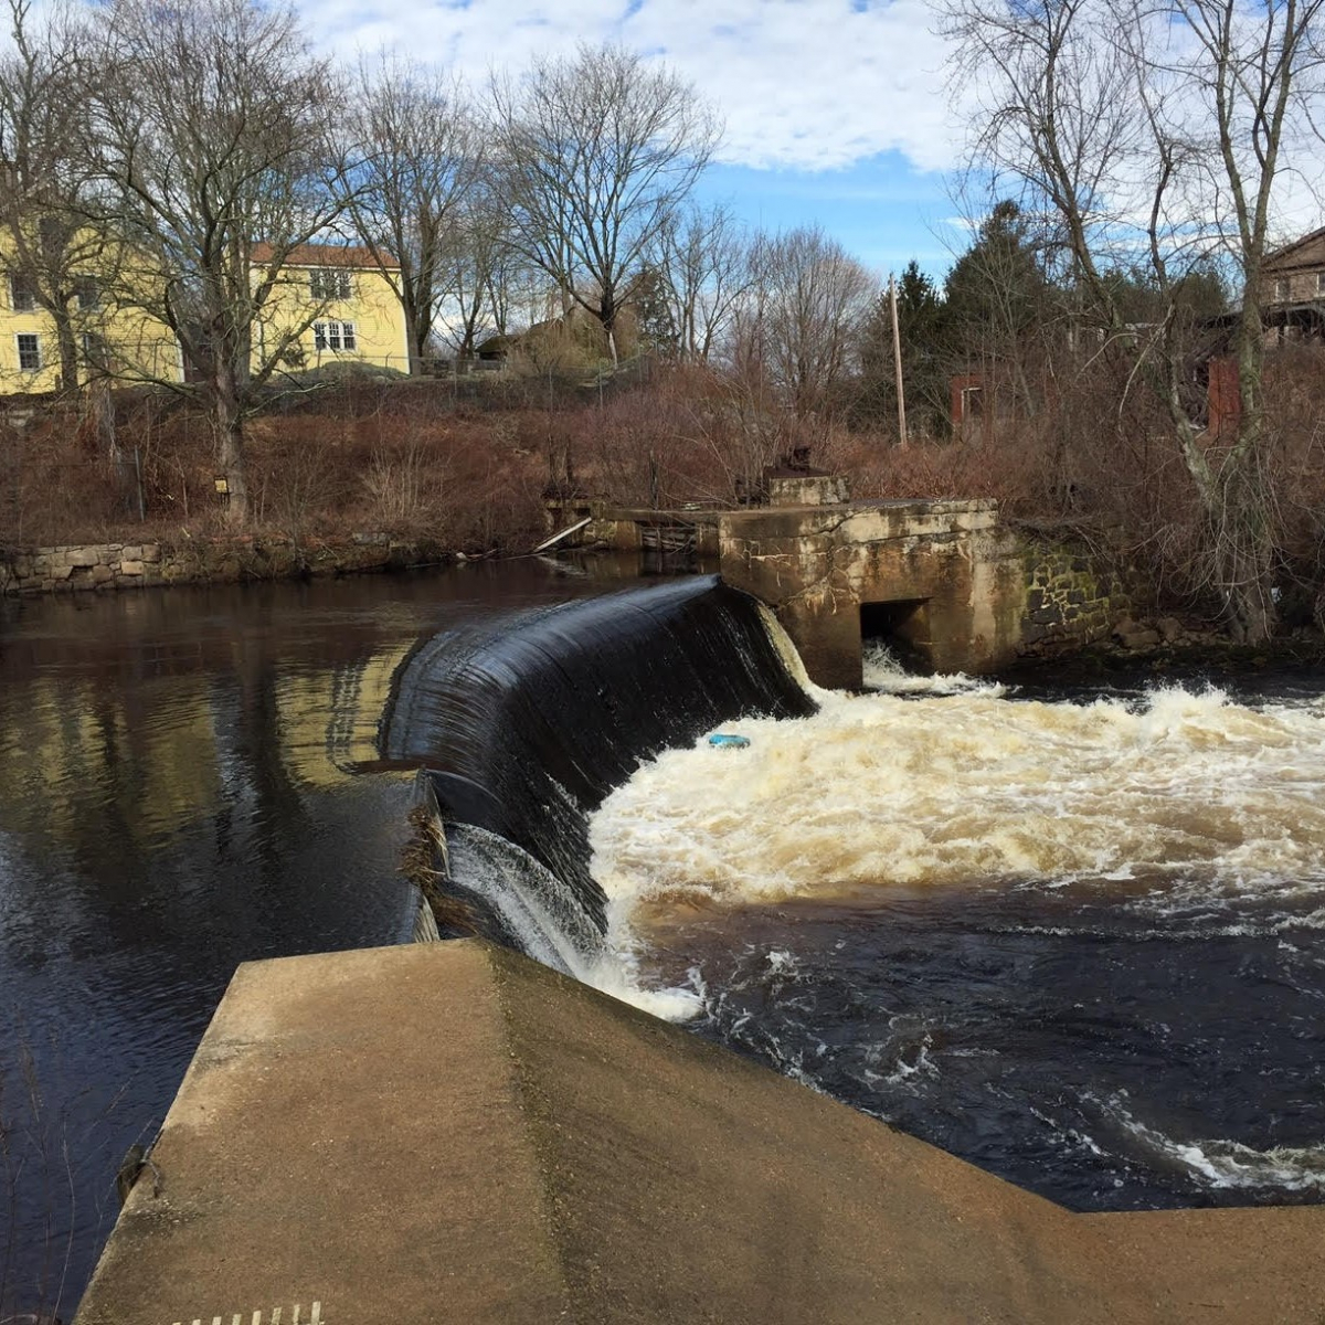
[[[95, 264], [86, 245], [89, 268]], [[78, 379], [182, 380], [179, 344], [170, 329], [113, 298], [107, 266], [74, 278], [69, 303]], [[0, 395], [57, 391], [60, 338], [41, 307], [32, 277], [0, 254]]]

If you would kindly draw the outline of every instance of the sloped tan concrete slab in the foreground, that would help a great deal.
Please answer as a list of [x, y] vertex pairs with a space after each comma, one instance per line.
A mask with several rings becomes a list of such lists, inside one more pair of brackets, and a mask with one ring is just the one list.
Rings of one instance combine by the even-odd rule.
[[480, 942], [242, 966], [154, 1159], [77, 1325], [1325, 1304], [1325, 1210], [1072, 1215]]

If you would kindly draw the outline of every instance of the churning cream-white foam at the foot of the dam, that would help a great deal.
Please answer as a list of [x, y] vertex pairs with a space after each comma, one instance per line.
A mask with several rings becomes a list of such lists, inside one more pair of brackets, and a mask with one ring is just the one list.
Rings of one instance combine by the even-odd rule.
[[739, 723], [735, 757], [705, 738], [668, 751], [604, 802], [592, 869], [619, 916], [677, 890], [738, 904], [1084, 880], [1173, 902], [1325, 881], [1314, 706], [1179, 688], [1141, 705], [982, 686], [819, 698], [810, 718]]

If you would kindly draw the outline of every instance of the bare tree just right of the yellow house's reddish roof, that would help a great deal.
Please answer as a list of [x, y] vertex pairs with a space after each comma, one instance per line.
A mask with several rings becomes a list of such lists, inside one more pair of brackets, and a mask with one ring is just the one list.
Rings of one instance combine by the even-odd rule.
[[480, 174], [481, 138], [454, 78], [386, 54], [359, 70], [351, 131], [364, 154], [354, 227], [400, 299], [417, 374], [447, 295], [456, 219]]

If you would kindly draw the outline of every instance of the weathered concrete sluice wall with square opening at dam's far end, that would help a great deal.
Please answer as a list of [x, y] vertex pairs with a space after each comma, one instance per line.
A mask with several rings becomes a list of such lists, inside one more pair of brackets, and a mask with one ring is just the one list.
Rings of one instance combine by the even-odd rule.
[[1018, 653], [1024, 567], [992, 501], [737, 511], [719, 546], [722, 578], [776, 611], [820, 685], [861, 684], [869, 604], [913, 604], [896, 631], [935, 672], [990, 672]]

